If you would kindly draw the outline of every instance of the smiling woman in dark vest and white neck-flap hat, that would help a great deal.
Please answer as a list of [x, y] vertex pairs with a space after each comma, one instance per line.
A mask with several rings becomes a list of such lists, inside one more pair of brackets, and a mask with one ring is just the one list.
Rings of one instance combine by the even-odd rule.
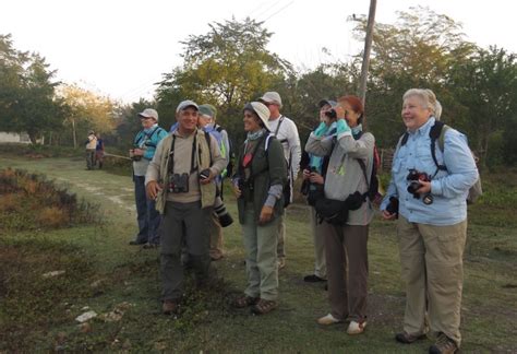
[[284, 212], [287, 166], [280, 142], [269, 133], [269, 109], [260, 102], [244, 106], [244, 131], [233, 190], [242, 225], [248, 286], [233, 305], [256, 315], [277, 307], [277, 228]]

